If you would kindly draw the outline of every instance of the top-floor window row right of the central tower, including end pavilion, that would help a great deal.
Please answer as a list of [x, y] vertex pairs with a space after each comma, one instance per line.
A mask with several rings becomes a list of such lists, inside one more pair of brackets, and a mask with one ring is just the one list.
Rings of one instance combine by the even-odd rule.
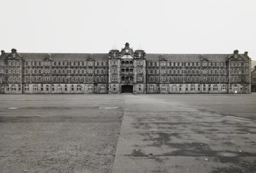
[[[249, 66], [248, 62], [231, 61], [230, 66]], [[148, 62], [148, 66], [159, 66], [159, 62]], [[225, 67], [225, 62], [160, 62], [160, 66], [222, 66]]]

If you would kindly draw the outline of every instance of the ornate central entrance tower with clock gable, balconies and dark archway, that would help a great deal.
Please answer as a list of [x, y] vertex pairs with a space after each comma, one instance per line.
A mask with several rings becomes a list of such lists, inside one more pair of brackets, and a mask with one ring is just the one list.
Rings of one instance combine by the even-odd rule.
[[146, 53], [125, 48], [109, 51], [109, 93], [144, 93], [146, 84]]

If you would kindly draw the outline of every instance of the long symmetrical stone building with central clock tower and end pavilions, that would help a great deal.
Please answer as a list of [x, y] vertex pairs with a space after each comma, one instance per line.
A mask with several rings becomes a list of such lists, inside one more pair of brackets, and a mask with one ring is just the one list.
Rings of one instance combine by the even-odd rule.
[[239, 54], [109, 53], [0, 56], [2, 94], [251, 93], [251, 59]]

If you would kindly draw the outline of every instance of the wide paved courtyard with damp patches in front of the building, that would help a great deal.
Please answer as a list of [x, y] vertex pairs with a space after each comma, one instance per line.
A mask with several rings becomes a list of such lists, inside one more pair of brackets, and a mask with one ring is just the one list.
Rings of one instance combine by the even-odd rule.
[[0, 95], [0, 172], [255, 172], [256, 95]]

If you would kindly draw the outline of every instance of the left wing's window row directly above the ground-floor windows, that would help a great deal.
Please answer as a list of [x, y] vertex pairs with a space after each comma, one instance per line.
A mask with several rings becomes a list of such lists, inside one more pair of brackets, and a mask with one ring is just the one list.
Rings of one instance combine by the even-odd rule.
[[[15, 78], [15, 77], [14, 77]], [[106, 77], [41, 77], [41, 76], [26, 76], [24, 82], [105, 82]]]

